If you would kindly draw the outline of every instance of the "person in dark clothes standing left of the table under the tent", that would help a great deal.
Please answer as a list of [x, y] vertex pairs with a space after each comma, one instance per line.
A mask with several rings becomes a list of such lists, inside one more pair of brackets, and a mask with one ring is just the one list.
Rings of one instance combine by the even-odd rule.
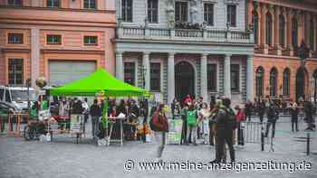
[[93, 140], [97, 140], [99, 133], [99, 118], [101, 117], [101, 105], [98, 104], [98, 100], [95, 98], [90, 108], [91, 113], [91, 134]]

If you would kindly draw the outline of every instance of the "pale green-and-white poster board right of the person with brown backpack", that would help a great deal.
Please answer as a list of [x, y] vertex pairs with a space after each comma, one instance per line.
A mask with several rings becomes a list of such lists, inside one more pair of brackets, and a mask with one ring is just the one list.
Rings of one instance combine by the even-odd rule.
[[168, 144], [180, 144], [183, 121], [181, 119], [168, 120]]

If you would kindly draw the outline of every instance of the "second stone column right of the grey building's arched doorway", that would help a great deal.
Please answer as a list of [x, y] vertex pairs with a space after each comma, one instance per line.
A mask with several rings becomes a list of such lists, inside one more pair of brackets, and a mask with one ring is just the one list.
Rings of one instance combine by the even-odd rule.
[[224, 88], [225, 97], [231, 98], [231, 54], [225, 55]]

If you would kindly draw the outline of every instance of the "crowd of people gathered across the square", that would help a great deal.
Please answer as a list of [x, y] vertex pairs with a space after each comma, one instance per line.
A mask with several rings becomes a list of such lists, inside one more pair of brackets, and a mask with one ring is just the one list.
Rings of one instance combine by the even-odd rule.
[[[43, 100], [43, 98], [41, 98]], [[107, 98], [108, 117], [116, 118], [123, 115], [130, 125], [124, 126], [125, 139], [135, 140], [138, 125], [148, 125], [155, 131], [155, 137], [159, 143], [158, 157], [162, 155], [164, 145], [167, 143], [166, 133], [168, 132], [168, 117], [166, 106], [159, 104], [149, 108], [147, 99], [139, 101], [128, 98], [120, 99], [117, 104], [115, 98]], [[104, 137], [101, 132], [101, 113], [104, 102], [95, 98], [91, 106], [87, 103], [87, 98], [58, 98], [58, 116], [70, 117], [72, 114], [84, 116], [84, 123], [91, 116], [91, 132], [94, 140]], [[235, 162], [234, 145], [245, 145], [242, 122], [257, 122], [266, 120], [266, 131], [264, 136], [268, 136], [272, 128], [271, 136], [274, 137], [275, 123], [281, 113], [291, 116], [292, 131], [298, 132], [299, 114], [304, 113], [307, 122], [307, 130], [314, 130], [315, 109], [311, 102], [296, 103], [292, 101], [279, 102], [269, 99], [255, 99], [255, 102], [247, 101], [244, 106], [231, 106], [229, 98], [221, 97], [210, 99], [210, 103], [204, 102], [204, 98], [193, 98], [187, 95], [183, 100], [173, 100], [170, 105], [171, 118], [182, 119], [181, 145], [215, 145], [216, 159], [212, 163], [219, 163], [226, 159], [225, 145], [227, 145], [232, 162]], [[139, 123], [139, 117], [143, 117], [143, 123]], [[116, 126], [120, 123], [113, 119], [114, 136], [116, 136]], [[120, 133], [117, 132], [119, 135]]]

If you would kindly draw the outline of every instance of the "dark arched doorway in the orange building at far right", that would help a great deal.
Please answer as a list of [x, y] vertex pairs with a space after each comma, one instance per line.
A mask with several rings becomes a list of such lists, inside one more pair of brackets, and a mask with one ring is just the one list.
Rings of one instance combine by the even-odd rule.
[[306, 82], [308, 80], [307, 78], [307, 71], [306, 69], [300, 68], [297, 70], [296, 73], [296, 100], [298, 101], [299, 98], [305, 99], [307, 96], [306, 94], [306, 89], [307, 89], [307, 84]]

